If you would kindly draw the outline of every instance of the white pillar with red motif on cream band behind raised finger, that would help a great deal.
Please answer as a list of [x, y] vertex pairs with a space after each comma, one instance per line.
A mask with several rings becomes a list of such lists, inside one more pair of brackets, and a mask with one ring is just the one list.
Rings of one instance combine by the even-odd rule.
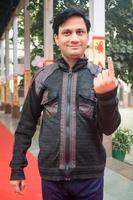
[[100, 67], [105, 67], [105, 0], [89, 1], [92, 42], [90, 60]]

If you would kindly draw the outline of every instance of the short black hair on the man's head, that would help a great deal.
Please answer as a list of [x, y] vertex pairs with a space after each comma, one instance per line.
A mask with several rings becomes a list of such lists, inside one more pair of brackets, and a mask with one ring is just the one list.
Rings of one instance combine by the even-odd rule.
[[90, 27], [91, 27], [90, 21], [80, 9], [78, 9], [78, 8], [66, 8], [59, 15], [57, 15], [53, 20], [54, 34], [58, 35], [59, 26], [61, 26], [71, 16], [82, 17], [84, 22], [85, 22], [87, 32], [90, 31]]

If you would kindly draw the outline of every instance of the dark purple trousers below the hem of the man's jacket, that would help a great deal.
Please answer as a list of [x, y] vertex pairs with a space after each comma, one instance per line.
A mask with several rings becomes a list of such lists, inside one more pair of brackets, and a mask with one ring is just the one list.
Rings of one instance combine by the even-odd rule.
[[42, 180], [43, 200], [103, 200], [103, 177], [72, 181]]

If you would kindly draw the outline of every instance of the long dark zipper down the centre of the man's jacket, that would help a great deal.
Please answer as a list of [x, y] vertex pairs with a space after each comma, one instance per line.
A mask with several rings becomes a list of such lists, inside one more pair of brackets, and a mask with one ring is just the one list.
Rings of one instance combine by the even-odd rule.
[[66, 180], [70, 180], [69, 165], [70, 165], [70, 104], [71, 104], [71, 82], [72, 72], [68, 73], [68, 85], [67, 85], [67, 107], [66, 107], [66, 145], [65, 145], [65, 172]]

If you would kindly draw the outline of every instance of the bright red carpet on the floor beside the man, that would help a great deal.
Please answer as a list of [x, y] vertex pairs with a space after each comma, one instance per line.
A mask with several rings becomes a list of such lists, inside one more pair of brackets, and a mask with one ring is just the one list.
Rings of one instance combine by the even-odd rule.
[[14, 193], [9, 184], [10, 167], [12, 157], [13, 135], [0, 122], [0, 200], [42, 200], [40, 176], [37, 168], [37, 160], [27, 153], [28, 167], [25, 168], [26, 188], [24, 195]]

